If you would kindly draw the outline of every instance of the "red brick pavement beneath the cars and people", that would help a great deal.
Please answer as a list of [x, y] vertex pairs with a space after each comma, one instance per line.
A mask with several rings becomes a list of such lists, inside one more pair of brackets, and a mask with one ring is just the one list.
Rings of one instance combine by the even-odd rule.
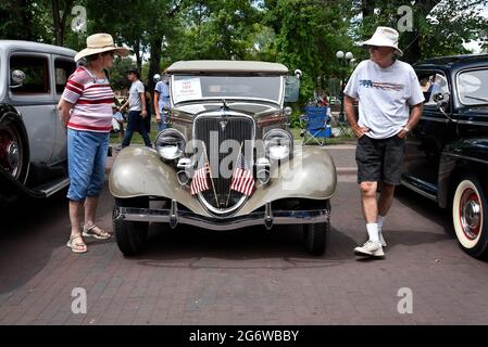
[[[365, 231], [353, 149], [330, 150], [342, 168], [327, 253], [309, 256], [299, 228], [234, 232], [154, 226], [143, 255], [124, 258], [115, 241], [72, 254], [62, 194], [3, 210], [1, 324], [487, 324], [488, 262], [465, 255], [449, 216], [400, 192], [385, 224], [386, 260], [359, 260]], [[347, 168], [347, 169], [346, 169]], [[352, 168], [352, 169], [351, 169]], [[105, 189], [99, 224], [111, 230]], [[86, 314], [72, 313], [75, 287]], [[413, 313], [397, 310], [399, 288]]]

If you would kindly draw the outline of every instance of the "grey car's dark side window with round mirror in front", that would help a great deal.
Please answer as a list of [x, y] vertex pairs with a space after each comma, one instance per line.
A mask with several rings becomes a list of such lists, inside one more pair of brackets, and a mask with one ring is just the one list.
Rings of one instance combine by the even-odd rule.
[[[10, 72], [20, 69], [25, 74], [21, 87], [11, 88], [14, 94], [49, 94], [49, 66], [46, 56], [12, 55], [10, 59]], [[12, 82], [12, 85], [14, 85]]]

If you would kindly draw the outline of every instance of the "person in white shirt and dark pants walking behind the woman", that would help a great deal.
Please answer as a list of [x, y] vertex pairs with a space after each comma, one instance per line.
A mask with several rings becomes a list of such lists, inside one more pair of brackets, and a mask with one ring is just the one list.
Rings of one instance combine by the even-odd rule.
[[134, 131], [138, 131], [145, 141], [145, 144], [150, 147], [151, 139], [148, 134], [148, 129], [145, 125], [145, 118], [148, 116], [146, 105], [145, 86], [140, 81], [140, 74], [136, 67], [127, 70], [127, 79], [132, 82], [129, 95], [126, 103], [121, 107], [121, 112], [129, 107], [127, 128], [125, 129], [125, 137], [122, 141], [122, 147], [130, 145]]

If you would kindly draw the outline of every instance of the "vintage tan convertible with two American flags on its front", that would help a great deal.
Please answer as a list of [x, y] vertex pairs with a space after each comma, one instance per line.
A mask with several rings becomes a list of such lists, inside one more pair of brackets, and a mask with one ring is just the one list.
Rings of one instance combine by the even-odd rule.
[[321, 255], [336, 192], [334, 160], [289, 131], [301, 73], [245, 61], [176, 62], [167, 68], [167, 129], [150, 147], [115, 158], [110, 191], [124, 255], [139, 253], [149, 223], [212, 230], [302, 224], [308, 250]]

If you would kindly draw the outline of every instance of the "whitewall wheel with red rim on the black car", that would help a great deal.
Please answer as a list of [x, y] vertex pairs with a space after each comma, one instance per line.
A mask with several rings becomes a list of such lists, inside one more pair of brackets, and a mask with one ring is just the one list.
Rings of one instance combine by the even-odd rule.
[[479, 180], [462, 178], [452, 197], [452, 221], [461, 247], [471, 256], [487, 255], [488, 205]]

